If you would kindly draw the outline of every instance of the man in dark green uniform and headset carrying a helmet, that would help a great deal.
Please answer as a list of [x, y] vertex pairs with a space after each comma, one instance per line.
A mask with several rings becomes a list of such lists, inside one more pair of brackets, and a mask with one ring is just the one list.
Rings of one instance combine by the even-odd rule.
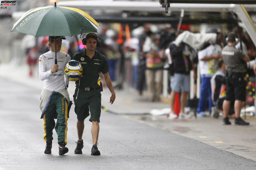
[[[112, 86], [108, 74], [108, 64], [106, 57], [95, 51], [96, 46], [100, 46], [100, 39], [94, 33], [89, 33], [85, 37], [87, 49], [83, 50], [74, 56], [74, 60], [79, 61], [83, 66], [83, 74], [79, 81], [76, 81], [76, 89], [73, 95], [75, 102], [75, 113], [77, 114], [77, 135], [75, 154], [82, 154], [84, 142], [82, 139], [84, 131], [84, 119], [89, 116], [89, 108], [92, 122], [92, 150], [91, 155], [100, 155], [98, 150], [98, 135], [99, 135], [99, 118], [101, 116], [101, 90], [99, 86], [99, 73], [104, 75], [105, 82], [111, 92], [110, 103], [115, 101], [115, 91]], [[84, 41], [83, 41], [84, 42]]]

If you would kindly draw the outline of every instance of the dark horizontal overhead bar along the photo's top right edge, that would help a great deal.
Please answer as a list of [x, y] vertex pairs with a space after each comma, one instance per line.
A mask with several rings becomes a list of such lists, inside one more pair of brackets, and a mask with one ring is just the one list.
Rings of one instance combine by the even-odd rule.
[[169, 3], [188, 4], [256, 4], [255, 0], [170, 0]]

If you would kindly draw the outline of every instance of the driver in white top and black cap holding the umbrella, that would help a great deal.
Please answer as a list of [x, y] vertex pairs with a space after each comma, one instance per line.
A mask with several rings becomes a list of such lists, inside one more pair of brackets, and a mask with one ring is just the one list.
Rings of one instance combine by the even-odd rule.
[[64, 78], [64, 70], [66, 63], [70, 60], [70, 56], [60, 51], [62, 39], [66, 38], [56, 37], [58, 64], [55, 64], [54, 60], [55, 37], [53, 36], [49, 36], [49, 42], [47, 43], [51, 50], [39, 57], [39, 78], [42, 81], [44, 80], [40, 109], [42, 111], [41, 119], [43, 118], [43, 138], [46, 141], [45, 154], [52, 153], [52, 130], [55, 126], [53, 118], [57, 118], [55, 131], [58, 135], [59, 154], [63, 155], [68, 152], [68, 148], [65, 145], [67, 144], [68, 106], [71, 106], [71, 102], [69, 102], [69, 94], [66, 88], [69, 81]]

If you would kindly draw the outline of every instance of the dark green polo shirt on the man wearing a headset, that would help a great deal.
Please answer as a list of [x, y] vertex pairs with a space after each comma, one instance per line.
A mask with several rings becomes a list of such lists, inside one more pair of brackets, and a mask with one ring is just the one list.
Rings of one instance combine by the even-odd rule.
[[[99, 57], [101, 58], [101, 68], [99, 64]], [[86, 56], [85, 50], [83, 50], [79, 53], [76, 53], [73, 59], [79, 61], [83, 68], [82, 77], [80, 80], [76, 81], [76, 87], [99, 87], [97, 83], [99, 78], [99, 71], [101, 70], [102, 74], [105, 74], [109, 71], [106, 57], [95, 51], [94, 56], [92, 59], [90, 59], [90, 57]]]

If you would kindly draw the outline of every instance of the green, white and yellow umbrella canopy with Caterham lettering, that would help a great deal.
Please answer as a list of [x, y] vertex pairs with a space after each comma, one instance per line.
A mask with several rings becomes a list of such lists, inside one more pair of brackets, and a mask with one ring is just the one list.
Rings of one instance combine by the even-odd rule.
[[80, 9], [54, 5], [27, 11], [13, 25], [12, 31], [34, 37], [71, 37], [97, 32], [98, 26], [99, 24], [89, 14]]

